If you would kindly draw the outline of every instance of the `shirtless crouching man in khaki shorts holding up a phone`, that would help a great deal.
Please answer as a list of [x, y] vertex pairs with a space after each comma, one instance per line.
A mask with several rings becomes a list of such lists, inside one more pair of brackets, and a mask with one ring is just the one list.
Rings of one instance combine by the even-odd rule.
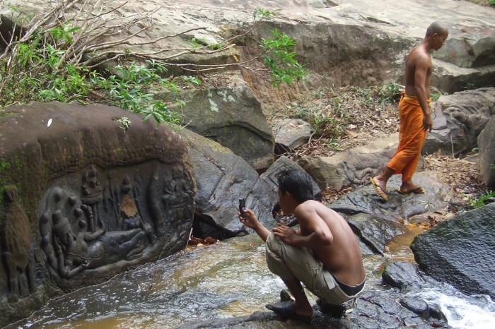
[[354, 299], [365, 285], [358, 241], [342, 216], [313, 200], [313, 184], [306, 172], [282, 172], [278, 185], [281, 210], [296, 217], [297, 232], [287, 226], [270, 231], [252, 210], [244, 208], [245, 220], [238, 213], [240, 222], [265, 241], [269, 270], [281, 277], [294, 297], [267, 305], [267, 309], [309, 323], [313, 309], [303, 284], [319, 298], [322, 311], [342, 316], [342, 303]]

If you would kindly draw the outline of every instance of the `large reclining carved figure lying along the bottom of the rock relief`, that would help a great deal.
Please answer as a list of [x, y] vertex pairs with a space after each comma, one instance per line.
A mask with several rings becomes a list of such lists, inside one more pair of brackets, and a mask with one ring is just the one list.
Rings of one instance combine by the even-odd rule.
[[146, 248], [141, 227], [107, 232], [102, 221], [95, 227], [93, 207], [95, 203], [78, 206], [76, 198], [60, 187], [49, 192], [47, 210], [40, 217], [41, 244], [47, 263], [61, 277], [70, 279], [86, 268], [139, 258]]

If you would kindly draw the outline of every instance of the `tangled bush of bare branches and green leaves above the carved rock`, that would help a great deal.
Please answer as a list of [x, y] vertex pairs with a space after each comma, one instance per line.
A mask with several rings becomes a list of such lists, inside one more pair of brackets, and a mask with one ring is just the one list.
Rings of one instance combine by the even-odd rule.
[[[191, 28], [141, 41], [139, 36], [151, 29], [153, 14], [160, 8], [123, 17], [120, 14], [123, 6], [107, 8], [107, 4], [99, 0], [59, 1], [47, 13], [38, 15], [25, 15], [20, 8], [9, 7], [11, 32], [1, 35], [5, 47], [0, 54], [0, 94], [3, 96], [0, 108], [32, 101], [103, 102], [142, 114], [144, 120], [153, 118], [157, 124], [177, 124], [180, 115], [168, 109], [168, 105], [177, 100], [157, 100], [156, 93], [170, 90], [171, 95], [176, 95], [181, 83], [199, 85], [200, 80], [192, 76], [168, 77], [170, 67], [198, 74], [228, 66], [255, 69], [250, 62], [262, 59], [274, 85], [291, 83], [305, 75], [295, 59], [296, 42], [276, 30], [272, 37], [262, 40], [263, 52], [255, 58], [238, 61], [231, 52], [237, 40], [263, 21], [272, 19], [276, 11], [256, 9], [251, 28], [228, 40], [198, 39], [192, 40], [191, 47], [172, 48], [163, 41], [193, 31], [206, 31], [206, 28]], [[153, 50], [142, 51], [145, 45], [153, 45], [150, 47]], [[235, 62], [173, 62], [186, 54], [206, 56], [220, 52], [232, 54]], [[103, 64], [112, 68], [103, 69]]]

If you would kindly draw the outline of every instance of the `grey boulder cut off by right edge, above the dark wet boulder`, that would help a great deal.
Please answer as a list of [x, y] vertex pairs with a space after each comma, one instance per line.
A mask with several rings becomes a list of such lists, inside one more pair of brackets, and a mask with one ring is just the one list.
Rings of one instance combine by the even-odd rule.
[[478, 136], [479, 172], [484, 184], [495, 189], [495, 115]]

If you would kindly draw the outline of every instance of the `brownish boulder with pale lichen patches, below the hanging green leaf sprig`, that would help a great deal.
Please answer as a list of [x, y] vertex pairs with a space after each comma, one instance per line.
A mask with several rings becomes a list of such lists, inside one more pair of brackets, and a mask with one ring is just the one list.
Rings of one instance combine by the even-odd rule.
[[274, 139], [261, 104], [238, 74], [223, 85], [181, 92], [184, 123], [194, 133], [214, 140], [243, 157], [255, 169], [274, 162]]

